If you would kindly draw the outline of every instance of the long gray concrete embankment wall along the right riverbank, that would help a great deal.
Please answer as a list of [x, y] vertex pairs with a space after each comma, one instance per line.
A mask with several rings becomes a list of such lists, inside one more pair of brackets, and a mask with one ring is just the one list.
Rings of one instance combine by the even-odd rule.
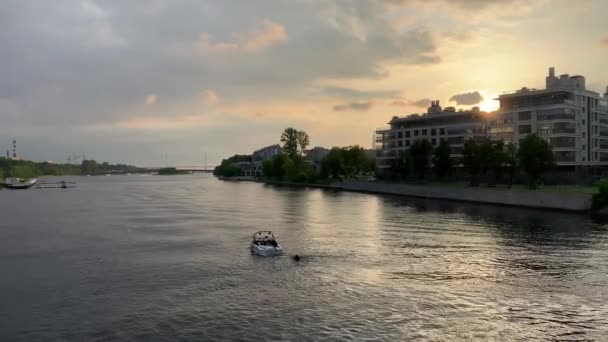
[[435, 185], [425, 186], [359, 181], [345, 181], [342, 184], [336, 184], [335, 187], [347, 191], [436, 198], [539, 209], [568, 211], [588, 211], [591, 209], [591, 195], [583, 193], [488, 188], [451, 188]]

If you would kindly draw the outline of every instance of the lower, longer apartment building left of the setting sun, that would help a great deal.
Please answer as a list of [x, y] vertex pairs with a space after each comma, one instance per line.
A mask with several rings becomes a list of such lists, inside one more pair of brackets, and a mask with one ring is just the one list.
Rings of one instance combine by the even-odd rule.
[[433, 146], [446, 139], [452, 156], [460, 157], [465, 140], [487, 136], [491, 116], [492, 113], [481, 112], [478, 107], [467, 111], [441, 108], [438, 100], [431, 101], [426, 114], [395, 116], [389, 122], [390, 127], [376, 131], [376, 165], [379, 169], [389, 168], [418, 139], [427, 139]]

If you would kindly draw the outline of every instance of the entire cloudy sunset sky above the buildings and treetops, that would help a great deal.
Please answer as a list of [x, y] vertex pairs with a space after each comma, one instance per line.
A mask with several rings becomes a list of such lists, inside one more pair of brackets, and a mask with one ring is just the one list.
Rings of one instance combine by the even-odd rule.
[[[3, 0], [0, 151], [139, 166], [371, 147], [393, 116], [608, 85], [605, 0]], [[4, 154], [4, 152], [3, 152]]]

